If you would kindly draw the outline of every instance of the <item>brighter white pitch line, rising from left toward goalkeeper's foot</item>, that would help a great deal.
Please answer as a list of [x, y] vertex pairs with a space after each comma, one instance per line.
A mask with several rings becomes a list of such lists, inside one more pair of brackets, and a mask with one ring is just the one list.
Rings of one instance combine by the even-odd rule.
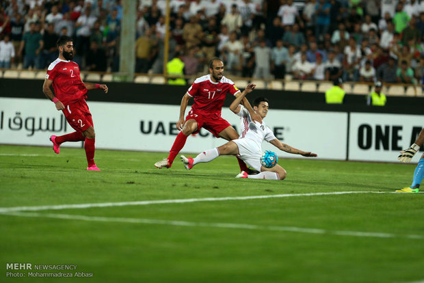
[[131, 206], [131, 205], [149, 205], [149, 204], [183, 204], [187, 202], [221, 202], [225, 200], [257, 200], [265, 198], [289, 198], [297, 196], [332, 196], [332, 195], [349, 195], [354, 193], [394, 193], [386, 191], [333, 191], [327, 193], [285, 193], [280, 195], [265, 196], [242, 196], [242, 197], [226, 197], [226, 198], [186, 198], [180, 200], [140, 200], [135, 202], [101, 202], [90, 204], [59, 204], [46, 206], [16, 206], [16, 207], [0, 207], [0, 213], [12, 211], [50, 211], [61, 209], [81, 209], [91, 207], [110, 207], [110, 206]]

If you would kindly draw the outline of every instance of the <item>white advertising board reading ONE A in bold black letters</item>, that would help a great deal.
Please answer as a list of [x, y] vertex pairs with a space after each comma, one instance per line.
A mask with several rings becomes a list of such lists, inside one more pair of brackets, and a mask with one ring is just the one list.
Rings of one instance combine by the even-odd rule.
[[395, 162], [399, 151], [414, 143], [423, 126], [424, 116], [351, 113], [349, 160]]

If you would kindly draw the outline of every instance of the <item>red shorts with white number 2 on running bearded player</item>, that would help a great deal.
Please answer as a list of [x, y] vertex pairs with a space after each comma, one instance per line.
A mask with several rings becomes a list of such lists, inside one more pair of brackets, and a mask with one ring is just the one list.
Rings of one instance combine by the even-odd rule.
[[62, 110], [66, 120], [75, 129], [75, 131], [83, 132], [93, 126], [93, 120], [91, 117], [90, 109], [84, 99], [66, 105], [65, 109]]

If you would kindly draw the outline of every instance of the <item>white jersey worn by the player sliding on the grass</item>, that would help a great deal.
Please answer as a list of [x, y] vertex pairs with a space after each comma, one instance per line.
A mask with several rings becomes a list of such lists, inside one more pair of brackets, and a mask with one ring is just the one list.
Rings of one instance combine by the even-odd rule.
[[240, 108], [240, 112], [237, 113], [237, 116], [240, 116], [241, 118], [240, 139], [250, 139], [252, 141], [252, 146], [261, 153], [263, 140], [265, 139], [265, 141], [270, 142], [271, 140], [276, 139], [276, 136], [272, 133], [271, 129], [268, 128], [265, 122], [262, 121], [262, 124], [259, 124], [259, 122], [252, 121], [250, 113], [246, 107], [240, 105]]

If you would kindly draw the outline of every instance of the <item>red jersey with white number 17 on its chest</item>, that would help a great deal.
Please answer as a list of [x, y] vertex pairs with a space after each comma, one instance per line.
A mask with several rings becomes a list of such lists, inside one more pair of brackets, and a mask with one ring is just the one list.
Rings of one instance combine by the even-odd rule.
[[211, 80], [211, 75], [197, 78], [187, 90], [187, 94], [194, 97], [191, 110], [203, 116], [212, 114], [221, 116], [222, 105], [224, 105], [225, 96], [228, 92], [235, 95], [240, 90], [234, 85], [233, 81], [224, 76], [218, 83]]

